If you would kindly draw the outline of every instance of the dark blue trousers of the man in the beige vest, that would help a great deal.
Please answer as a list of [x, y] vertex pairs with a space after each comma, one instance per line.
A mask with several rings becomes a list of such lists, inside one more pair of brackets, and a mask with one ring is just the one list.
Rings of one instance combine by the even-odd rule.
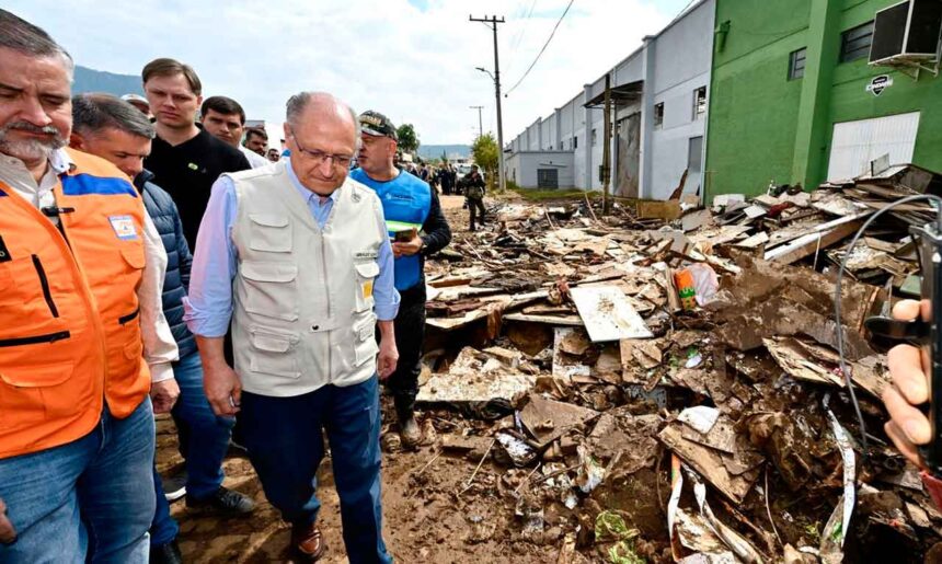
[[382, 542], [376, 376], [356, 385], [325, 385], [294, 398], [242, 392], [239, 418], [265, 496], [292, 525], [318, 518], [315, 474], [324, 457], [321, 429], [325, 429], [347, 559], [353, 564], [392, 562]]

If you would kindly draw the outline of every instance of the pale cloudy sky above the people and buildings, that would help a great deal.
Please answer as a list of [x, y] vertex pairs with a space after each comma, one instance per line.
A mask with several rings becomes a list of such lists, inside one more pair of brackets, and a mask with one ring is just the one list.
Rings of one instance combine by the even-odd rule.
[[[204, 95], [234, 97], [250, 118], [280, 123], [288, 96], [325, 90], [358, 112], [412, 123], [425, 145], [470, 143], [484, 105], [496, 133], [490, 27], [498, 25], [504, 90], [532, 62], [568, 0], [5, 0], [79, 65], [138, 74], [156, 57], [193, 65]], [[631, 54], [688, 0], [574, 0], [524, 82], [504, 99], [508, 142]], [[529, 14], [529, 18], [528, 18]]]

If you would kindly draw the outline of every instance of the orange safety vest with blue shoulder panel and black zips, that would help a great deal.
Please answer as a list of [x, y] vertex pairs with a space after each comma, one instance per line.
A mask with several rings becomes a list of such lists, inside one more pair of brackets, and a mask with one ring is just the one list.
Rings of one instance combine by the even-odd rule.
[[84, 436], [103, 401], [127, 417], [150, 389], [143, 204], [114, 165], [68, 152], [76, 166], [54, 188], [61, 231], [0, 182], [0, 459]]

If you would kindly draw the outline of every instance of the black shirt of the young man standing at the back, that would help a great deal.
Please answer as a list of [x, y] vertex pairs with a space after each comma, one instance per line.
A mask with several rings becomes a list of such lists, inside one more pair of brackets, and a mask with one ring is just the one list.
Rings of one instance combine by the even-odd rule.
[[209, 203], [212, 183], [223, 172], [250, 169], [242, 151], [212, 137], [204, 129], [176, 147], [154, 138], [143, 166], [153, 173], [152, 182], [173, 197], [183, 222], [183, 234], [196, 249], [196, 232]]

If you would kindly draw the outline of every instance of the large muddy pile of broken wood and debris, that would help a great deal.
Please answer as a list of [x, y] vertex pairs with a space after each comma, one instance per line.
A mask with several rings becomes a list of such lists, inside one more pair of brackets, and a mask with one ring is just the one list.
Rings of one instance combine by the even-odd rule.
[[[885, 348], [864, 320], [918, 296], [907, 229], [931, 209], [847, 245], [888, 202], [939, 188], [896, 168], [668, 219], [512, 203], [493, 230], [457, 233], [427, 267], [426, 445], [468, 460], [458, 507], [514, 516], [467, 542], [519, 538], [560, 563], [921, 562], [942, 514], [883, 435]], [[846, 257], [866, 452], [835, 337]]]

